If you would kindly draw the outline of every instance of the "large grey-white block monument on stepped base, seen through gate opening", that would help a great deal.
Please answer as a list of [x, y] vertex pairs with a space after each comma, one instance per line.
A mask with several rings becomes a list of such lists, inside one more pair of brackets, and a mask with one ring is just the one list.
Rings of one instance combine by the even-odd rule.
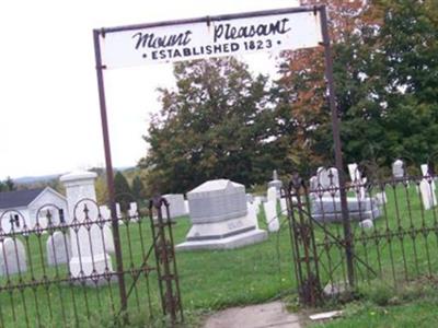
[[178, 250], [237, 248], [267, 237], [249, 214], [243, 185], [209, 180], [187, 192], [187, 200], [192, 229]]

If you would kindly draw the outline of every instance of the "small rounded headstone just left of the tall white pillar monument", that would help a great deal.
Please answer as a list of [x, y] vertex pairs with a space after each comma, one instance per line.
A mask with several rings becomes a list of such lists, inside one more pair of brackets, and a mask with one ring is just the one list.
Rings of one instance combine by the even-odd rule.
[[71, 258], [70, 236], [60, 231], [55, 232], [46, 242], [46, 251], [49, 266], [68, 263]]

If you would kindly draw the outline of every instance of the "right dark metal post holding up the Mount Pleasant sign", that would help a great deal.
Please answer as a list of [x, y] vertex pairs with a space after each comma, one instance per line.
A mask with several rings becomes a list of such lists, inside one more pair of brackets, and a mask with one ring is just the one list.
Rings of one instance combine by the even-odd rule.
[[341, 209], [342, 209], [343, 226], [345, 235], [347, 274], [348, 274], [349, 286], [354, 288], [355, 269], [353, 262], [354, 250], [353, 250], [351, 226], [348, 219], [347, 194], [345, 190], [345, 175], [344, 175], [344, 164], [342, 155], [341, 134], [339, 134], [339, 117], [335, 103], [333, 58], [332, 58], [332, 49], [331, 49], [331, 42], [330, 42], [328, 26], [327, 26], [327, 12], [325, 5], [320, 7], [320, 14], [321, 14], [321, 31], [323, 36], [324, 58], [325, 58], [325, 78], [327, 80], [328, 105], [332, 114], [333, 141], [335, 145], [335, 164], [339, 173], [339, 197], [341, 197]]

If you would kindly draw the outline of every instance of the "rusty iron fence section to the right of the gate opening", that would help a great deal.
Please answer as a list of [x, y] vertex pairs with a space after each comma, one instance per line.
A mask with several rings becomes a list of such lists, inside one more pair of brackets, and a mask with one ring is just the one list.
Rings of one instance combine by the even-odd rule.
[[310, 180], [295, 175], [284, 197], [301, 301], [315, 305], [376, 280], [397, 288], [436, 277], [436, 179], [431, 172], [359, 174], [345, 187], [346, 231], [336, 169], [322, 168]]

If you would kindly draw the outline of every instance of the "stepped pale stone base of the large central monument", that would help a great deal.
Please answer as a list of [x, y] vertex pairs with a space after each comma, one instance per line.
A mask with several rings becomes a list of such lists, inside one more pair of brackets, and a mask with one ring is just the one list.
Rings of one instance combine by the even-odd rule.
[[257, 229], [249, 215], [221, 222], [194, 224], [186, 242], [176, 250], [232, 249], [261, 243], [267, 232]]

